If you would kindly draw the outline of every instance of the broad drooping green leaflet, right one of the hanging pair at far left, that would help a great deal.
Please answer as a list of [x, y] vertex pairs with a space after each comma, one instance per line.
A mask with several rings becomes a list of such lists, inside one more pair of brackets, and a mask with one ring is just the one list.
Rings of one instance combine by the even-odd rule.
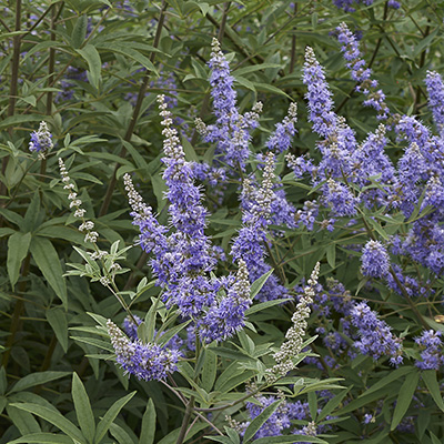
[[37, 266], [42, 272], [44, 279], [63, 302], [63, 305], [67, 305], [67, 284], [62, 278], [63, 271], [59, 255], [57, 254], [52, 243], [48, 239], [34, 236], [32, 238], [30, 250]]

